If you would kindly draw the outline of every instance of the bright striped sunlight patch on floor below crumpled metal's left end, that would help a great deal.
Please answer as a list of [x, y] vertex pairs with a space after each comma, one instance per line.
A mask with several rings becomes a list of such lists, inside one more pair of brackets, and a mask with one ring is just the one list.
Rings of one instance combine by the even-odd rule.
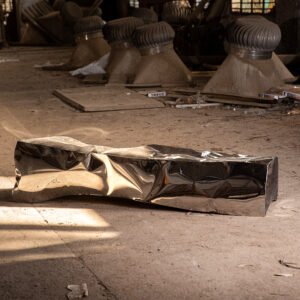
[[103, 246], [119, 236], [93, 209], [0, 206], [1, 264], [75, 257], [72, 244]]

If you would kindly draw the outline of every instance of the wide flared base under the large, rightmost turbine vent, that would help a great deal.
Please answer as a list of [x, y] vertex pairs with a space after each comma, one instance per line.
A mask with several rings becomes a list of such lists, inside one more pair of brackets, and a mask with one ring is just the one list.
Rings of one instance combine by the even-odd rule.
[[271, 59], [254, 60], [229, 54], [203, 89], [206, 94], [259, 98], [261, 93], [295, 79], [273, 53]]

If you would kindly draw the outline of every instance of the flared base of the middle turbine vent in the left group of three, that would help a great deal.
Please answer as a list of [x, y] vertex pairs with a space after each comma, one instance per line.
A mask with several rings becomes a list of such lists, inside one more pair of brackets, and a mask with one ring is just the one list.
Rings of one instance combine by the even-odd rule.
[[106, 68], [108, 82], [132, 83], [140, 60], [140, 52], [135, 47], [120, 48], [112, 46]]

